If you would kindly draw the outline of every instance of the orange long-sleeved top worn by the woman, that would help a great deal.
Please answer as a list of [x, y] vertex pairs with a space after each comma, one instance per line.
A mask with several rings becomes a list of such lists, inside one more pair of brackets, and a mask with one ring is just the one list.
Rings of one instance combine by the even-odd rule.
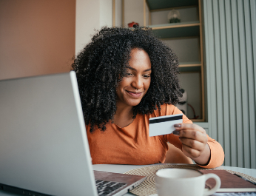
[[[90, 133], [87, 125], [87, 137], [90, 145], [92, 164], [132, 164], [147, 165], [164, 163], [167, 141], [182, 149], [177, 135], [158, 135], [149, 137], [149, 118], [164, 115], [182, 114], [173, 105], [164, 104], [161, 111], [155, 110], [151, 115], [138, 114], [132, 124], [120, 128], [115, 124], [108, 124], [105, 132], [96, 129]], [[183, 123], [192, 123], [183, 115]], [[206, 168], [220, 166], [223, 163], [224, 153], [220, 143], [208, 136], [211, 149], [211, 159]]]

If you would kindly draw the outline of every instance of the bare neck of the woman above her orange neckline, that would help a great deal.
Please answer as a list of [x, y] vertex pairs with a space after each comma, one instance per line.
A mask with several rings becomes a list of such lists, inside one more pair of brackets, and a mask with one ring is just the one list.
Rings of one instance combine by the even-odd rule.
[[123, 128], [125, 126], [128, 126], [129, 124], [132, 123], [132, 121], [134, 120], [132, 118], [133, 116], [133, 111], [132, 108], [133, 107], [124, 107], [121, 105], [117, 104], [117, 109], [114, 115], [114, 124], [116, 124], [117, 126]]

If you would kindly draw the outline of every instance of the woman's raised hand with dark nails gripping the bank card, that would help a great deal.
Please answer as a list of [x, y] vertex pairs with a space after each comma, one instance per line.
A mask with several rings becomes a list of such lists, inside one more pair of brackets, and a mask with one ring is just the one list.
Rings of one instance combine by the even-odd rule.
[[173, 134], [179, 136], [184, 155], [206, 165], [211, 157], [206, 131], [197, 124], [175, 124], [175, 129]]

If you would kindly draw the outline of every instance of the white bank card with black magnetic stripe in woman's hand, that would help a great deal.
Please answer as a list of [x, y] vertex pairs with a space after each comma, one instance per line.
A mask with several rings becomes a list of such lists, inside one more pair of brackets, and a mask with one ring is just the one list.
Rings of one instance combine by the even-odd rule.
[[175, 124], [182, 124], [182, 116], [183, 114], [178, 114], [149, 118], [149, 137], [171, 134], [175, 130]]

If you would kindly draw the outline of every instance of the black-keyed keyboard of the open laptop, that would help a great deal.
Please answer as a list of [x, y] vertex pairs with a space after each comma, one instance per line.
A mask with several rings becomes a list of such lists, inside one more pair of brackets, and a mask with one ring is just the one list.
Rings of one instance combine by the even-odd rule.
[[127, 183], [117, 183], [117, 182], [104, 181], [104, 180], [95, 180], [95, 183], [96, 183], [98, 195], [101, 195], [101, 196], [111, 195], [113, 192], [127, 185]]

